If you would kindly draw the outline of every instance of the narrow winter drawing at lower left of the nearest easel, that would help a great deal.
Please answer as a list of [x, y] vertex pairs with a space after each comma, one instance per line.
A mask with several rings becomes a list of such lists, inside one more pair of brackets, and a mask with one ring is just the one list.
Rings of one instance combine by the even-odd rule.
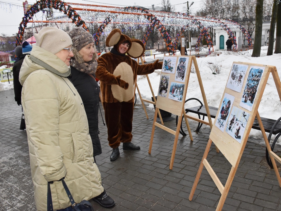
[[234, 96], [227, 93], [225, 93], [225, 96], [223, 97], [220, 113], [215, 124], [222, 132], [225, 130], [226, 121], [232, 108], [234, 98]]

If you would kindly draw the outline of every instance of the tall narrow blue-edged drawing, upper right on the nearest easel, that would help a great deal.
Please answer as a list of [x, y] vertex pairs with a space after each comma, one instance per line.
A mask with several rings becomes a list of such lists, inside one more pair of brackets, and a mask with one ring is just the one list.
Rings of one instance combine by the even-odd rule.
[[251, 111], [265, 67], [251, 66], [239, 106]]

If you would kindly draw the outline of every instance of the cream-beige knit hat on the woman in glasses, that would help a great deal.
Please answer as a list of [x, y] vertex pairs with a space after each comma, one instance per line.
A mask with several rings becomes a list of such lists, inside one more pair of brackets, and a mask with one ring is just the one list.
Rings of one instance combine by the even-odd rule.
[[54, 27], [42, 28], [38, 34], [34, 34], [34, 37], [36, 39], [36, 46], [42, 47], [53, 54], [72, 45], [69, 35], [65, 31]]

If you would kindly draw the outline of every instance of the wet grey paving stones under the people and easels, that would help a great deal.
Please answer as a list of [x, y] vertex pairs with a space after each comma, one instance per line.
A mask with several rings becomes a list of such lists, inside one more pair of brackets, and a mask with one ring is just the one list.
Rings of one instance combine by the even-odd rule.
[[[21, 106], [14, 101], [13, 90], [0, 92], [0, 113], [0, 210], [36, 210], [27, 135], [19, 130]], [[150, 119], [145, 118], [142, 107], [135, 107], [132, 142], [141, 149], [123, 151], [120, 146], [120, 158], [114, 162], [109, 160], [107, 128], [99, 116], [102, 154], [96, 160], [103, 186], [116, 205], [105, 209], [91, 201], [94, 210], [215, 210], [220, 192], [205, 169], [193, 200], [188, 200], [210, 129], [205, 127], [199, 134], [192, 132], [193, 142], [188, 136], [180, 135], [174, 167], [169, 170], [174, 136], [157, 128], [152, 154], [148, 154], [154, 111], [148, 109], [148, 115]], [[175, 121], [165, 125], [176, 128]], [[190, 126], [194, 131], [197, 123], [190, 121]], [[208, 161], [225, 185], [231, 165], [221, 153], [215, 152], [213, 144]], [[265, 161], [265, 147], [248, 142], [223, 210], [281, 211], [280, 198], [281, 188], [275, 173]]]

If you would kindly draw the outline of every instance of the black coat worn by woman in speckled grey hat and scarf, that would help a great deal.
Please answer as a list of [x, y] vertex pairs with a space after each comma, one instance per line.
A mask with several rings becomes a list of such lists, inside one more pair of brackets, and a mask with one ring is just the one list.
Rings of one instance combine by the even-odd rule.
[[98, 112], [99, 112], [99, 86], [97, 81], [89, 76], [87, 73], [78, 71], [76, 68], [71, 67], [71, 76], [69, 79], [80, 94], [84, 108], [86, 111], [89, 132], [92, 138], [94, 156], [102, 154], [100, 146], [100, 139], [98, 136]]

